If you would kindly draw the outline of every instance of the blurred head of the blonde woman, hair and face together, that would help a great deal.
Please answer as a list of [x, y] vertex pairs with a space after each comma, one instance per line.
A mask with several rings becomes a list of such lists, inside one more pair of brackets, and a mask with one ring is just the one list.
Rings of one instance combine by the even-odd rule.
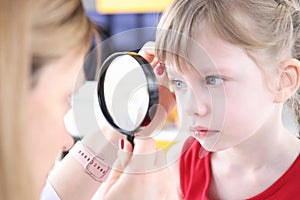
[[73, 144], [63, 117], [92, 25], [80, 0], [0, 2], [0, 196], [35, 199]]

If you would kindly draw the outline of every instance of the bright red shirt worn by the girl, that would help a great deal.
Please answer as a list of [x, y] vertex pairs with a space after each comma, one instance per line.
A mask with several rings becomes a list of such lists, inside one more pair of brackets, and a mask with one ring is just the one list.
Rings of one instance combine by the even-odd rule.
[[[199, 153], [203, 156], [199, 156]], [[180, 187], [184, 199], [209, 199], [207, 193], [211, 177], [210, 157], [211, 153], [205, 153], [197, 140], [187, 139], [179, 168]], [[300, 155], [273, 185], [250, 199], [300, 199]]]

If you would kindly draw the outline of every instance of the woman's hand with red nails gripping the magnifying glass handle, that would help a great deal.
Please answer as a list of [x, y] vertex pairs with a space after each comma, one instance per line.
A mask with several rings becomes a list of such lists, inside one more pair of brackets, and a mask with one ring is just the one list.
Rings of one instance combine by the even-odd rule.
[[180, 199], [176, 181], [167, 166], [164, 151], [151, 138], [119, 144], [118, 160], [95, 199]]

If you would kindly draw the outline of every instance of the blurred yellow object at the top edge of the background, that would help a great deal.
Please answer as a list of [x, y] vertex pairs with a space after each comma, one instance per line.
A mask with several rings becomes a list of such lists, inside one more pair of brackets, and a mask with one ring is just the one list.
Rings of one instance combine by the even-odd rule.
[[162, 12], [173, 0], [97, 0], [103, 14]]

